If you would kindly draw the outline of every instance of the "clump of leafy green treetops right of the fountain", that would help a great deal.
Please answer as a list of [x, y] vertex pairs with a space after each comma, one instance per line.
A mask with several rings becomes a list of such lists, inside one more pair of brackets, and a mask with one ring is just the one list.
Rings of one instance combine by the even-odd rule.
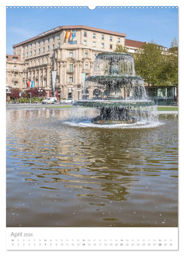
[[178, 47], [176, 38], [171, 43], [170, 54], [162, 54], [159, 46], [152, 40], [143, 44], [134, 54], [135, 72], [148, 85], [173, 86], [178, 84]]

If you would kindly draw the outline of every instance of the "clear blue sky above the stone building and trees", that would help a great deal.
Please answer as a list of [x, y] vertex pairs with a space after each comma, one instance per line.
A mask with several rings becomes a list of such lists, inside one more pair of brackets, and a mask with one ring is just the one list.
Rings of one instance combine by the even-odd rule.
[[[85, 25], [118, 31], [127, 39], [150, 42], [170, 47], [171, 41], [178, 39], [178, 9], [175, 8], [98, 8], [90, 10], [84, 5], [72, 8], [7, 8], [6, 10], [6, 54], [13, 54], [12, 45], [38, 34], [63, 25]], [[22, 5], [23, 6], [23, 5]], [[42, 8], [39, 8], [41, 6]], [[47, 8], [47, 6], [49, 8]], [[61, 5], [62, 6], [62, 5]], [[82, 8], [80, 8], [82, 6]], [[115, 5], [116, 6], [116, 5]], [[20, 5], [21, 7], [21, 5]]]

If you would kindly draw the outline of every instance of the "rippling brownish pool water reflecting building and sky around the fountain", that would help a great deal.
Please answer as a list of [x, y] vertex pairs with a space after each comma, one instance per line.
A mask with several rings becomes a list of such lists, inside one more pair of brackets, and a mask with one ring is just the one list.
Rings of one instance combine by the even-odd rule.
[[7, 226], [177, 226], [177, 115], [153, 128], [66, 124], [97, 111], [7, 111]]

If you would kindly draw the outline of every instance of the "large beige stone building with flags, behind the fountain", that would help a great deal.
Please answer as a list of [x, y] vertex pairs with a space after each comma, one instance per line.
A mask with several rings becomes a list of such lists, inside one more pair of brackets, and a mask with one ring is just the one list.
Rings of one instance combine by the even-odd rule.
[[[82, 93], [83, 78], [91, 76], [96, 55], [113, 52], [116, 44], [124, 46], [126, 34], [88, 26], [60, 26], [43, 32], [34, 38], [13, 45], [14, 57], [18, 57], [20, 73], [18, 83], [7, 78], [7, 86], [27, 89], [26, 81], [34, 82], [55, 96], [78, 99], [78, 88]], [[52, 71], [56, 71], [53, 92]], [[9, 76], [9, 75], [8, 75]]]

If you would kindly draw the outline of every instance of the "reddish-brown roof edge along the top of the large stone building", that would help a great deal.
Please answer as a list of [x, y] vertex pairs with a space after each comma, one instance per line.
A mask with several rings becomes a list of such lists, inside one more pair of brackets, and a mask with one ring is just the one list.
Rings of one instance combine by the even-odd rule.
[[100, 33], [107, 33], [107, 34], [112, 34], [112, 35], [118, 35], [118, 36], [121, 36], [121, 37], [126, 37], [126, 34], [123, 34], [123, 33], [119, 33], [119, 32], [115, 32], [115, 31], [110, 31], [110, 30], [105, 30], [105, 29], [98, 29], [96, 27], [89, 27], [89, 26], [84, 26], [84, 25], [68, 25], [68, 26], [58, 26], [58, 27], [55, 27], [54, 29], [51, 29], [51, 30], [47, 30], [39, 35], [37, 35], [36, 37], [32, 37], [30, 39], [27, 39], [23, 42], [20, 42], [18, 44], [15, 44], [13, 45], [12, 47], [17, 47], [17, 46], [20, 46], [22, 44], [26, 44], [28, 42], [31, 42], [35, 39], [38, 39], [38, 38], [41, 38], [47, 34], [50, 34], [50, 33], [54, 33], [56, 31], [60, 31], [60, 30], [71, 30], [71, 29], [84, 29], [84, 30], [91, 30], [91, 31], [96, 31], [96, 32], [100, 32]]

